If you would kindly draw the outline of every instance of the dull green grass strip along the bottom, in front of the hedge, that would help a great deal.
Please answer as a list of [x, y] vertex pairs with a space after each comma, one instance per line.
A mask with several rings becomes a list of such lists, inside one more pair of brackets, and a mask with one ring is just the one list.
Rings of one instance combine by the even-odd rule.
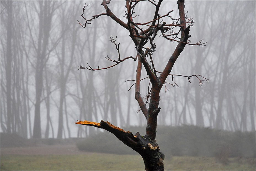
[[[165, 170], [255, 170], [255, 158], [229, 158], [227, 164], [212, 157], [174, 156], [164, 160]], [[140, 155], [88, 153], [88, 155], [1, 155], [1, 170], [145, 170]]]

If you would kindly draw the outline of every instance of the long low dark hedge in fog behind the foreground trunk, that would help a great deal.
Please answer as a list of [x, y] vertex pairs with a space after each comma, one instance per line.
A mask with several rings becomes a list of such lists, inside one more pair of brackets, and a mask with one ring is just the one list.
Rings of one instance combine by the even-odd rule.
[[[145, 133], [145, 127], [130, 127], [124, 130], [135, 134]], [[228, 157], [255, 158], [255, 131], [223, 131], [200, 128], [193, 125], [158, 126], [156, 139], [161, 151], [166, 156], [214, 156], [226, 163]], [[113, 134], [105, 131], [78, 141], [79, 150], [114, 153], [136, 154], [135, 151], [120, 142]]]

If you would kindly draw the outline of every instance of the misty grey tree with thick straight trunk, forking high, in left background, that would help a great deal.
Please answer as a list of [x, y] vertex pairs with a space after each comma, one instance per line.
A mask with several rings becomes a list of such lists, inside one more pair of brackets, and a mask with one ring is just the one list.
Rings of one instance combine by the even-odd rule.
[[[31, 37], [31, 44], [33, 45], [35, 51], [34, 58], [36, 59], [35, 62], [32, 62], [32, 59], [29, 60], [35, 70], [36, 96], [34, 105], [34, 138], [42, 137], [40, 106], [42, 102], [41, 95], [43, 88], [43, 70], [50, 57], [50, 53], [53, 49], [55, 49], [59, 42], [59, 38], [57, 38], [57, 40], [54, 40], [54, 38], [50, 38], [50, 32], [52, 30], [52, 18], [54, 16], [55, 10], [58, 7], [57, 4], [57, 1], [38, 1], [38, 3], [32, 4], [32, 6], [34, 5], [33, 8], [36, 10], [36, 13], [38, 15], [38, 27], [36, 27], [36, 25], [29, 22], [31, 19], [33, 20], [34, 15], [29, 14], [30, 11], [27, 9], [27, 5], [25, 2], [28, 29]], [[39, 28], [38, 34], [36, 33], [37, 28]]]

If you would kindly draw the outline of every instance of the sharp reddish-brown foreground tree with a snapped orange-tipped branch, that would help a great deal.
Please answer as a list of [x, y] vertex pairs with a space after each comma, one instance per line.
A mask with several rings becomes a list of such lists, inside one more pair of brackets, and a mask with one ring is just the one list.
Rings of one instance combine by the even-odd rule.
[[[135, 23], [134, 18], [134, 11], [135, 7], [138, 3], [141, 3], [142, 1], [126, 1], [126, 20], [127, 23], [124, 23], [122, 20], [120, 20], [116, 15], [112, 13], [110, 8], [108, 7], [108, 4], [110, 1], [102, 1], [101, 5], [106, 10], [106, 13], [101, 13], [98, 15], [94, 15], [91, 19], [86, 19], [84, 17], [85, 8], [88, 5], [84, 5], [83, 11], [82, 11], [82, 17], [85, 20], [84, 24], [81, 24], [79, 21], [78, 23], [82, 27], [86, 27], [86, 24], [91, 24], [92, 20], [95, 18], [98, 18], [102, 15], [110, 16], [116, 23], [124, 27], [129, 31], [129, 36], [132, 39], [132, 41], [135, 44], [135, 48], [137, 51], [136, 57], [126, 57], [124, 59], [121, 59], [120, 57], [120, 51], [119, 51], [119, 45], [120, 43], [116, 42], [116, 38], [110, 37], [110, 41], [116, 46], [116, 50], [118, 51], [118, 60], [112, 60], [110, 58], [106, 58], [112, 62], [114, 62], [114, 65], [111, 65], [109, 67], [105, 68], [92, 68], [88, 63], [88, 67], [82, 67], [79, 66], [78, 69], [87, 69], [91, 71], [96, 70], [105, 70], [111, 67], [114, 67], [121, 62], [127, 60], [127, 59], [133, 59], [134, 61], [138, 62], [137, 70], [136, 70], [136, 80], [135, 80], [135, 99], [137, 100], [140, 110], [144, 114], [146, 118], [146, 135], [142, 136], [140, 133], [136, 133], [133, 135], [130, 131], [124, 131], [123, 129], [116, 127], [112, 125], [109, 122], [105, 122], [101, 120], [100, 123], [97, 122], [90, 122], [90, 121], [78, 121], [76, 124], [82, 124], [82, 125], [89, 125], [94, 126], [97, 128], [105, 129], [112, 134], [114, 134], [119, 140], [121, 140], [124, 144], [126, 144], [128, 147], [132, 148], [136, 152], [138, 152], [144, 161], [145, 169], [146, 170], [164, 170], [164, 154], [160, 152], [160, 148], [158, 144], [156, 143], [156, 127], [157, 127], [157, 116], [160, 112], [159, 101], [160, 101], [160, 90], [163, 85], [165, 85], [165, 81], [167, 77], [170, 74], [172, 67], [174, 66], [175, 61], [177, 60], [180, 53], [183, 51], [186, 44], [188, 45], [199, 45], [204, 46], [204, 43], [202, 43], [202, 40], [199, 42], [192, 44], [188, 38], [190, 38], [189, 31], [190, 31], [190, 25], [192, 25], [194, 22], [192, 18], [187, 18], [185, 16], [185, 5], [184, 1], [177, 1], [178, 4], [178, 11], [179, 11], [179, 18], [174, 19], [172, 16], [170, 16], [170, 13], [173, 12], [173, 10], [169, 11], [166, 15], [160, 15], [159, 14], [159, 8], [162, 3], [162, 1], [158, 1], [158, 3], [155, 3], [153, 1], [148, 1], [150, 5], [155, 6], [154, 11], [154, 17], [153, 20], [143, 23]], [[160, 22], [162, 19], [165, 19], [164, 17], [167, 17], [169, 21], [171, 20], [171, 23], [166, 22]], [[161, 19], [161, 20], [160, 20]], [[186, 27], [186, 23], [188, 23], [188, 27]], [[141, 28], [141, 26], [147, 26], [147, 29]], [[154, 43], [154, 39], [156, 38], [157, 34], [160, 34], [161, 37], [171, 41], [171, 42], [178, 42], [178, 45], [176, 46], [173, 54], [169, 58], [169, 61], [166, 64], [166, 67], [162, 72], [159, 72], [156, 70], [153, 62], [153, 52], [156, 51], [156, 44]], [[150, 48], [145, 48], [146, 43], [148, 42]], [[146, 56], [149, 57], [150, 62], [148, 62]], [[147, 99], [144, 102], [143, 98], [140, 94], [140, 81], [141, 79], [141, 72], [142, 72], [142, 65], [144, 66], [146, 73], [150, 79], [151, 86], [148, 86], [148, 95]], [[172, 78], [174, 75], [171, 75]], [[183, 76], [183, 75], [180, 75]], [[196, 76], [196, 78], [199, 79], [199, 84], [202, 83], [202, 81], [209, 81], [208, 79], [204, 78], [204, 80], [200, 79], [200, 75], [191, 75], [191, 76], [183, 76], [187, 77], [188, 81], [190, 82], [190, 77]], [[150, 89], [151, 87], [151, 89]], [[148, 103], [149, 101], [149, 103]], [[148, 105], [148, 106], [147, 106]]]

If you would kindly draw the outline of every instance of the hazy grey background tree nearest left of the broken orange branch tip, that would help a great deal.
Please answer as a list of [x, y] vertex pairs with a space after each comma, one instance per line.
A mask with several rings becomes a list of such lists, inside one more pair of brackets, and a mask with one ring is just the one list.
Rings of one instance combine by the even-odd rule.
[[[65, 2], [68, 3], [68, 2]], [[75, 44], [77, 38], [77, 25], [73, 24], [74, 17], [76, 16], [76, 6], [77, 4], [73, 5], [73, 9], [66, 8], [65, 5], [60, 7], [60, 23], [62, 28], [62, 40], [61, 40], [61, 48], [60, 53], [56, 53], [58, 58], [60, 71], [59, 75], [59, 87], [60, 87], [60, 104], [59, 104], [59, 119], [58, 119], [58, 134], [57, 138], [62, 138], [63, 134], [63, 103], [66, 98], [66, 84], [68, 82], [68, 77], [71, 71], [71, 65], [73, 64], [74, 59], [74, 51], [75, 51]], [[68, 12], [69, 11], [69, 12]], [[71, 36], [68, 36], [71, 35]], [[67, 42], [67, 40], [70, 40]], [[70, 53], [69, 53], [70, 52]], [[67, 56], [69, 58], [67, 59]], [[67, 123], [68, 124], [68, 123]], [[67, 125], [67, 129], [69, 126]], [[68, 136], [70, 137], [70, 131], [68, 129]]]

